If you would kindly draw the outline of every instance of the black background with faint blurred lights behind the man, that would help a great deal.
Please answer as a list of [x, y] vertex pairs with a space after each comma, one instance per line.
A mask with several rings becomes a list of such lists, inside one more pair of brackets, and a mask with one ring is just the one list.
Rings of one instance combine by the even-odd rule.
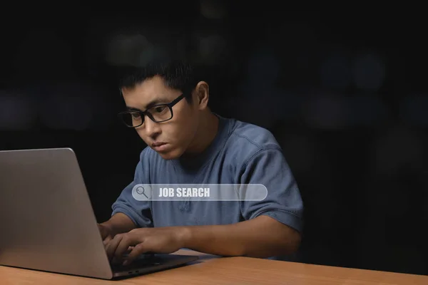
[[181, 2], [3, 9], [0, 150], [73, 148], [102, 222], [145, 147], [116, 68], [190, 56], [216, 113], [282, 145], [305, 202], [292, 260], [428, 274], [422, 13]]

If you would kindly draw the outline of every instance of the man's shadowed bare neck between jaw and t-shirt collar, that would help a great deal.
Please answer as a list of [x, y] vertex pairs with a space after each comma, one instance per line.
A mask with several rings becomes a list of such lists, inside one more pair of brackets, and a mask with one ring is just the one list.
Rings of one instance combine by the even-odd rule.
[[209, 112], [202, 115], [195, 140], [183, 157], [193, 157], [206, 150], [218, 133], [219, 118]]

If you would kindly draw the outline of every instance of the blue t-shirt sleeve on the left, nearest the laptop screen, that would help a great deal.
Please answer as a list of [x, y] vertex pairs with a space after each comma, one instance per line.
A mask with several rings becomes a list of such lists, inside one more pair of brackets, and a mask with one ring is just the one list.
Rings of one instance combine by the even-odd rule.
[[137, 227], [153, 227], [150, 201], [135, 199], [133, 197], [133, 188], [136, 187], [136, 185], [144, 184], [143, 171], [143, 163], [142, 160], [140, 160], [136, 167], [133, 182], [122, 190], [121, 195], [119, 195], [116, 202], [113, 203], [111, 207], [113, 212], [111, 215], [123, 213], [126, 214]]

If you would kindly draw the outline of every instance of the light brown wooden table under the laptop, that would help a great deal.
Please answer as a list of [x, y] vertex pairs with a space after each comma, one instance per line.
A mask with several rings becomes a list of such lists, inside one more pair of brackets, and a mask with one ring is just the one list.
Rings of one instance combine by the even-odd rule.
[[217, 258], [187, 250], [181, 250], [175, 254], [198, 254], [200, 260], [188, 266], [119, 281], [0, 266], [0, 284], [428, 284], [428, 276], [421, 275], [346, 269], [248, 257]]

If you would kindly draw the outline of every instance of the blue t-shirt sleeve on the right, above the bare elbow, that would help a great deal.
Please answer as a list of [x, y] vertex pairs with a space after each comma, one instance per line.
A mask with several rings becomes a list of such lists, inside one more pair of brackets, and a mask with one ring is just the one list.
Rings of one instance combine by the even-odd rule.
[[302, 232], [302, 197], [280, 147], [258, 150], [241, 173], [242, 184], [262, 184], [267, 189], [261, 201], [240, 202], [244, 219], [267, 215]]

